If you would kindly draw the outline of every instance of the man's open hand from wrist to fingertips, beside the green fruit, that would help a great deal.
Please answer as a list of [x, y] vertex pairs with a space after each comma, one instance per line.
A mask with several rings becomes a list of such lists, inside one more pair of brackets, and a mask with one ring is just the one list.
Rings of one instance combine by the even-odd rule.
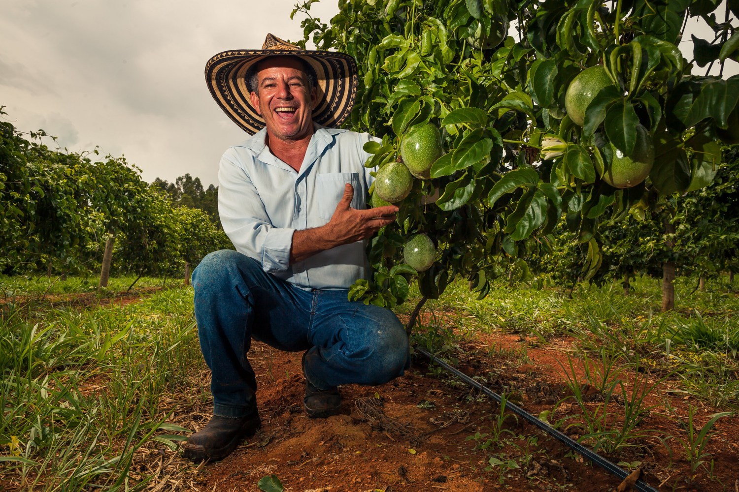
[[371, 238], [382, 226], [392, 224], [395, 221], [395, 212], [398, 212], [395, 205], [366, 210], [353, 209], [350, 207], [352, 198], [354, 188], [347, 183], [344, 186], [344, 196], [326, 224], [330, 229], [330, 236], [337, 241], [336, 246]]

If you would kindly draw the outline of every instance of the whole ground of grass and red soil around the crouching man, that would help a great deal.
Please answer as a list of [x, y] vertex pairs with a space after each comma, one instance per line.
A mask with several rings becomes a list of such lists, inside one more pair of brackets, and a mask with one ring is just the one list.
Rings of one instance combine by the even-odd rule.
[[[145, 277], [2, 277], [7, 491], [611, 491], [619, 480], [415, 354], [382, 387], [344, 387], [342, 414], [302, 413], [299, 353], [255, 343], [262, 430], [213, 465], [180, 457], [208, 419], [192, 291]], [[660, 313], [658, 280], [536, 290], [454, 283], [412, 335], [507, 401], [658, 490], [733, 491], [738, 479], [739, 285], [694, 289]], [[412, 291], [411, 299], [420, 299]], [[398, 308], [401, 319], [409, 309]]]

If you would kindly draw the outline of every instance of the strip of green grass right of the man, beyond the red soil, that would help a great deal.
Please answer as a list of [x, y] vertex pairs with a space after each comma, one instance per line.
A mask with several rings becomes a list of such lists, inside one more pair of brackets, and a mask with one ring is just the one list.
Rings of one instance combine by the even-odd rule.
[[[415, 340], [426, 347], [452, 347], [474, 333], [502, 330], [529, 342], [546, 343], [571, 336], [581, 354], [619, 358], [621, 364], [641, 364], [656, 375], [672, 374], [681, 389], [719, 408], [739, 407], [739, 295], [728, 277], [709, 281], [706, 291], [697, 279], [675, 282], [675, 311], [661, 313], [660, 281], [641, 277], [630, 295], [621, 285], [578, 285], [569, 291], [536, 290], [526, 285], [491, 285], [477, 300], [466, 283], [456, 282], [440, 299], [427, 302], [434, 322], [419, 325]], [[418, 302], [412, 294], [401, 313]], [[429, 328], [429, 325], [431, 327]]]

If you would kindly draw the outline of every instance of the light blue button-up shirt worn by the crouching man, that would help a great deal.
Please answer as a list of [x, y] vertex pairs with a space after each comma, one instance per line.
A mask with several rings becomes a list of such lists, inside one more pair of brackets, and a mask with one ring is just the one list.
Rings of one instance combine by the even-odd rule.
[[354, 187], [351, 206], [364, 209], [372, 184], [364, 167], [369, 134], [316, 125], [299, 171], [265, 145], [262, 130], [225, 151], [218, 171], [218, 213], [236, 251], [300, 288], [349, 288], [369, 276], [366, 241], [344, 244], [290, 265], [293, 232], [327, 224], [344, 195]]

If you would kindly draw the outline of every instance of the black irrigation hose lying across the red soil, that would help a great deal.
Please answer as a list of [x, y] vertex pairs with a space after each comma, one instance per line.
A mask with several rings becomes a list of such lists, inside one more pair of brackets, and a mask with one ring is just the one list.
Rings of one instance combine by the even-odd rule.
[[[422, 353], [424, 356], [428, 357], [430, 361], [436, 362], [441, 367], [448, 370], [450, 373], [456, 375], [457, 378], [462, 379], [462, 381], [466, 382], [471, 387], [475, 387], [479, 389], [481, 392], [485, 393], [493, 400], [497, 401], [500, 404], [503, 404], [503, 398], [501, 398], [500, 395], [498, 395], [492, 389], [484, 387], [482, 384], [470, 378], [469, 375], [460, 373], [460, 371], [454, 369], [454, 367], [450, 366], [449, 364], [446, 364], [446, 362], [442, 361], [440, 358], [433, 356], [431, 353], [429, 353], [428, 350], [420, 348], [420, 347], [416, 347], [415, 350], [419, 353]], [[576, 440], [573, 440], [571, 437], [565, 434], [562, 434], [562, 432], [559, 432], [558, 430], [554, 429], [554, 427], [550, 426], [548, 423], [542, 420], [539, 420], [537, 417], [534, 417], [534, 415], [531, 415], [530, 413], [526, 412], [524, 409], [522, 409], [520, 406], [517, 406], [515, 403], [506, 401], [505, 408], [511, 409], [512, 412], [514, 412], [516, 415], [519, 415], [520, 417], [523, 417], [525, 420], [528, 421], [528, 423], [534, 424], [534, 426], [537, 426], [539, 429], [542, 429], [542, 431], [551, 435], [556, 440], [559, 440], [559, 442], [565, 444], [565, 446], [568, 446], [569, 448], [572, 448], [574, 451], [577, 451], [579, 454], [582, 455], [582, 457], [588, 458], [588, 460], [592, 461], [599, 467], [604, 468], [606, 471], [610, 472], [610, 474], [613, 474], [616, 477], [619, 477], [619, 479], [623, 480], [629, 476], [627, 471], [624, 471], [624, 469], [622, 469], [619, 465], [616, 465], [615, 463], [606, 460], [600, 454], [597, 454], [596, 452], [586, 448], [585, 446], [582, 446], [582, 444], [578, 443]], [[644, 482], [644, 480], [642, 479], [638, 479], [634, 487], [636, 488], [637, 491], [641, 491], [641, 492], [658, 492], [657, 489], [653, 488], [651, 485], [647, 484], [647, 482]]]

